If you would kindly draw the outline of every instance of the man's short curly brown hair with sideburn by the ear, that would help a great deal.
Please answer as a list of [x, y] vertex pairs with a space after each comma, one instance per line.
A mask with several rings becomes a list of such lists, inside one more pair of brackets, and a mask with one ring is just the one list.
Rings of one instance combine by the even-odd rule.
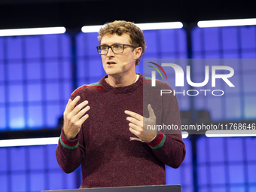
[[[104, 27], [99, 29], [99, 42], [102, 41], [104, 35], [123, 35], [127, 33], [130, 35], [131, 44], [134, 47], [142, 47], [142, 55], [145, 53], [146, 44], [145, 37], [141, 29], [132, 22], [125, 20], [115, 20], [112, 23], [105, 23]], [[134, 49], [133, 49], [134, 50]], [[136, 66], [139, 65], [142, 55], [136, 60]]]

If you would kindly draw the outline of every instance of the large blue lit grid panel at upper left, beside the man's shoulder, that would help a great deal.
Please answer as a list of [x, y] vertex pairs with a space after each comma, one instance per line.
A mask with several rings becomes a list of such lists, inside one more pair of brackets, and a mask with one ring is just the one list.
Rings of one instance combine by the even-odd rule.
[[0, 38], [0, 130], [55, 128], [72, 93], [69, 36]]

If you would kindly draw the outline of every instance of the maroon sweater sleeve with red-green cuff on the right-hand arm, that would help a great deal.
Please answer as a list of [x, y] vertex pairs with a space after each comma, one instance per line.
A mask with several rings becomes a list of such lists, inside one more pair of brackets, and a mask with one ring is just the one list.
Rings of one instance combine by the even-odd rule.
[[[162, 102], [163, 117], [158, 121], [161, 122], [162, 130], [158, 131], [157, 136], [151, 142], [148, 142], [148, 145], [158, 160], [172, 168], [178, 168], [186, 154], [181, 135], [178, 101], [176, 96], [166, 94], [162, 97]], [[169, 126], [169, 129], [167, 129], [167, 126]]]

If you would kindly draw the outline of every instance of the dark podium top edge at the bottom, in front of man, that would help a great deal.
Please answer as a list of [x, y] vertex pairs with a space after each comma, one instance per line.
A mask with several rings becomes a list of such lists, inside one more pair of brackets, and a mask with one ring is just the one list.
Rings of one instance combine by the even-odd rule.
[[180, 184], [129, 186], [129, 187], [97, 187], [69, 190], [41, 190], [41, 192], [181, 192]]

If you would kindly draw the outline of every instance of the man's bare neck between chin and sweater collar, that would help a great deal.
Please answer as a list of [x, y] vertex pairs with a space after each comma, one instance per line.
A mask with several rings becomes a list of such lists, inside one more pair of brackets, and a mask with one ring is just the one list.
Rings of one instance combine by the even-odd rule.
[[108, 75], [108, 78], [105, 81], [111, 85], [112, 87], [126, 87], [136, 82], [137, 75], [134, 73], [133, 75], [129, 76], [112, 76]]

